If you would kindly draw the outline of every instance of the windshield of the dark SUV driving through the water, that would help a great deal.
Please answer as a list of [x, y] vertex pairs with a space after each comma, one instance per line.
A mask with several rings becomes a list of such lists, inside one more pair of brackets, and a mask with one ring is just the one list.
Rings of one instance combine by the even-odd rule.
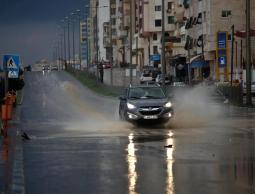
[[166, 96], [160, 87], [137, 87], [129, 90], [130, 99], [161, 99], [165, 97]]

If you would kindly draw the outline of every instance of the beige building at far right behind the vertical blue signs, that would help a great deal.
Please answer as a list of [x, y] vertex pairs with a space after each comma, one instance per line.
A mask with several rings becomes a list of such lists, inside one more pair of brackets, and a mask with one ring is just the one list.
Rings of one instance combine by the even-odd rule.
[[[235, 28], [234, 33], [245, 30], [245, 1], [196, 0], [184, 1], [184, 6], [187, 18], [186, 49], [191, 60], [193, 78], [228, 81], [231, 69], [232, 26]], [[255, 3], [251, 2], [251, 13], [254, 13], [254, 9]], [[253, 19], [251, 26], [255, 26]], [[241, 53], [245, 56], [244, 48], [245, 40], [235, 37], [233, 65], [236, 79], [241, 78]]]

